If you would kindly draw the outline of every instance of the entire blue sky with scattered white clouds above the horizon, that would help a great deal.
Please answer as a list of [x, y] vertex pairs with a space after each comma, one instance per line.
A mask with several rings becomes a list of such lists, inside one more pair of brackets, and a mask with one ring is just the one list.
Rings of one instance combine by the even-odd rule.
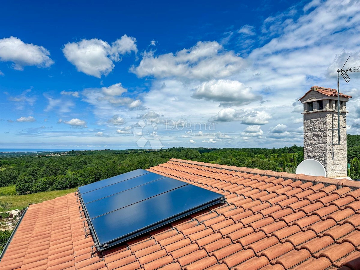
[[[343, 2], [6, 1], [0, 148], [302, 145], [298, 98], [360, 64]], [[359, 75], [341, 81], [348, 125]]]

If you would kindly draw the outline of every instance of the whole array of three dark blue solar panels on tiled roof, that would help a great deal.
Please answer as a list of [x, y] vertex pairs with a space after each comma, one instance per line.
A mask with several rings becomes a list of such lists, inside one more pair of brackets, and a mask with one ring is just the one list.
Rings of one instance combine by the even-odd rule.
[[[99, 251], [181, 219], [224, 195], [153, 172], [139, 170], [82, 186], [78, 196]], [[138, 176], [134, 176], [134, 175]], [[115, 176], [117, 177], [117, 176]], [[126, 177], [130, 177], [125, 179]], [[101, 182], [101, 181], [99, 181]], [[96, 183], [99, 183], [96, 182]], [[86, 191], [86, 192], [84, 192]], [[85, 200], [84, 200], [85, 198]]]

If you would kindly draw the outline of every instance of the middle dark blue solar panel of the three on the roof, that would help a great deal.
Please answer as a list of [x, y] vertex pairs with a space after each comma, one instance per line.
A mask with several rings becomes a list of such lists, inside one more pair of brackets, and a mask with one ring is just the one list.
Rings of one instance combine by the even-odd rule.
[[[94, 217], [104, 215], [185, 185], [188, 185], [188, 183], [165, 177], [97, 201], [86, 203], [85, 208], [89, 218], [93, 219]], [[99, 207], [99, 205], [103, 207]]]

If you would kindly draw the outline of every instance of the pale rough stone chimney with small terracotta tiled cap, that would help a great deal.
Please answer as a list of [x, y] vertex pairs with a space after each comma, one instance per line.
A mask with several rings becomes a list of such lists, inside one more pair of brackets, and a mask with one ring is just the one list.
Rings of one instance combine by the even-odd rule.
[[313, 86], [300, 98], [304, 104], [304, 159], [316, 159], [327, 177], [347, 176], [346, 102], [340, 93], [340, 144], [338, 144], [338, 94], [336, 89]]

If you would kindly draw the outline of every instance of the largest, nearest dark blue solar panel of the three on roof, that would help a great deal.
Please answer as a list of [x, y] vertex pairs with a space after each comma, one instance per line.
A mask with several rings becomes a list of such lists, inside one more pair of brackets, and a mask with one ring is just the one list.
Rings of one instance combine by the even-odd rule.
[[219, 202], [224, 195], [194, 185], [149, 198], [91, 219], [99, 246], [120, 243]]

